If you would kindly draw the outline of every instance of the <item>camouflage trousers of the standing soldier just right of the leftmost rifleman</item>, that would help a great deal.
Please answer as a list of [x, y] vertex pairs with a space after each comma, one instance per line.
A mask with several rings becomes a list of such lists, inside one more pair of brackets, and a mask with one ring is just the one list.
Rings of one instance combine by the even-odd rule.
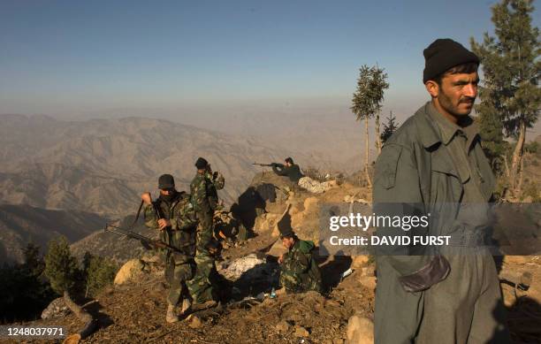
[[206, 245], [212, 240], [212, 228], [197, 233], [195, 250], [194, 278], [187, 282], [187, 288], [194, 302], [207, 302], [215, 299], [215, 291], [211, 283], [211, 275], [216, 272], [214, 257], [210, 255]]

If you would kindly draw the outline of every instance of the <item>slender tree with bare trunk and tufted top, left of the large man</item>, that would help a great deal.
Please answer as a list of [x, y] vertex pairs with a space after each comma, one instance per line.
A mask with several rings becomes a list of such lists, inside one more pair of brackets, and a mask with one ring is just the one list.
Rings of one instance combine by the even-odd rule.
[[[384, 91], [389, 88], [387, 83], [387, 73], [385, 69], [377, 65], [369, 67], [362, 65], [359, 69], [359, 78], [357, 79], [357, 89], [352, 99], [351, 111], [357, 120], [364, 120], [366, 135], [365, 151], [365, 174], [369, 187], [372, 187], [369, 173], [370, 143], [369, 143], [369, 120], [380, 110], [384, 101]], [[381, 150], [381, 141], [379, 139], [379, 128], [377, 127], [377, 149]]]

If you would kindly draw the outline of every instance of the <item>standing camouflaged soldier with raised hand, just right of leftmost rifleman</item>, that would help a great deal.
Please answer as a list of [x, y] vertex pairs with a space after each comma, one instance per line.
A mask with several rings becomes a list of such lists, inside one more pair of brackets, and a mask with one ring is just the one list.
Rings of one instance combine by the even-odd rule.
[[217, 208], [217, 190], [224, 188], [225, 180], [219, 172], [212, 172], [210, 164], [202, 157], [195, 162], [197, 173], [190, 185], [192, 203], [199, 220], [197, 226], [195, 271], [187, 287], [194, 298], [194, 302], [212, 302], [217, 298], [217, 291], [213, 290], [213, 276], [217, 271], [214, 264], [213, 253], [210, 247], [214, 243], [213, 215]]

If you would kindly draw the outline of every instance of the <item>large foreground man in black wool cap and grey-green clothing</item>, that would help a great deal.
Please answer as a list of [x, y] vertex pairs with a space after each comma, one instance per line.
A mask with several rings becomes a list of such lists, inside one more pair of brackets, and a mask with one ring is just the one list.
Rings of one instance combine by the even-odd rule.
[[[423, 55], [431, 101], [385, 142], [374, 173], [374, 212], [430, 213], [429, 226], [408, 233], [450, 240], [442, 246], [385, 248], [384, 254], [376, 248], [375, 340], [508, 343], [498, 274], [484, 248], [494, 176], [469, 117], [480, 61], [451, 39], [432, 42]], [[377, 228], [377, 235], [404, 233]]]

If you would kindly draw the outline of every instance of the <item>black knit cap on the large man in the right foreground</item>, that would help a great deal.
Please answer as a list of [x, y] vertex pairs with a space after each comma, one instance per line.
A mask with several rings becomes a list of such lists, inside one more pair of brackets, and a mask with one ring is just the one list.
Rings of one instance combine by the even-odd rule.
[[475, 62], [479, 65], [479, 57], [467, 50], [459, 42], [450, 38], [439, 38], [423, 50], [424, 71], [423, 83], [434, 80], [441, 73], [445, 73], [456, 65]]

